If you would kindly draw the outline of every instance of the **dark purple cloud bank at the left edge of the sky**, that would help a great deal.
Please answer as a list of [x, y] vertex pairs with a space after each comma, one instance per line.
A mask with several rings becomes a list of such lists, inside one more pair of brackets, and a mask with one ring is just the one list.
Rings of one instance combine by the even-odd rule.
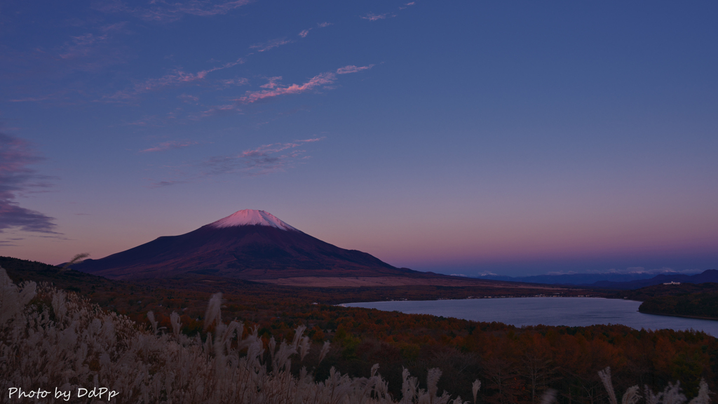
[[60, 234], [55, 219], [32, 209], [19, 206], [17, 197], [34, 188], [47, 188], [47, 177], [29, 167], [42, 160], [34, 154], [31, 144], [18, 137], [0, 132], [0, 233], [4, 229]]

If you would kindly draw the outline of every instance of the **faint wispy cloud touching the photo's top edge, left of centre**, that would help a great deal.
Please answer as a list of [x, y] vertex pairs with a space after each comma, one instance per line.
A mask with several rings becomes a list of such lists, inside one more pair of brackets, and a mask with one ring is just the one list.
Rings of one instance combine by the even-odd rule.
[[245, 4], [251, 3], [251, 0], [235, 0], [235, 1], [211, 1], [211, 0], [190, 0], [168, 2], [165, 0], [152, 0], [149, 7], [132, 7], [120, 0], [101, 0], [94, 1], [93, 9], [106, 12], [124, 12], [139, 19], [151, 22], [175, 22], [185, 15], [195, 15], [199, 17], [212, 17], [215, 15], [227, 14], [233, 9], [237, 9]]

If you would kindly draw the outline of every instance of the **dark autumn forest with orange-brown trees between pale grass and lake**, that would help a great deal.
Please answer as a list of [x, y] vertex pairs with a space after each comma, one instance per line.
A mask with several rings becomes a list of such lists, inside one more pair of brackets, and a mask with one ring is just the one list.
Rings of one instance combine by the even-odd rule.
[[[39, 263], [3, 259], [0, 264], [16, 283], [32, 278], [52, 282], [62, 293], [97, 304], [98, 313], [106, 313], [103, 316], [126, 318], [141, 332], [155, 334], [156, 330], [157, 335], [167, 334], [168, 338], [182, 334], [182, 338], [207, 344], [218, 327], [241, 323], [241, 327], [234, 326], [238, 339], [255, 335], [262, 349], [271, 350], [272, 341], [297, 340], [301, 329], [307, 349], [312, 346], [309, 352], [314, 354], [307, 354], [301, 363], [292, 362], [289, 371], [293, 377], [301, 377], [304, 367], [314, 382], [322, 382], [333, 377], [333, 368], [350, 378], [370, 380], [378, 364], [386, 393], [394, 399], [404, 396], [406, 372], [418, 377], [417, 388], [431, 387], [426, 384], [431, 369], [442, 373], [437, 391], [454, 398], [472, 398], [474, 382], [480, 380], [477, 400], [497, 404], [538, 403], [551, 391], [556, 392], [559, 403], [607, 403], [610, 395], [599, 375], [607, 367], [619, 394], [634, 385], [661, 391], [669, 383], [680, 382], [684, 394], [695, 397], [701, 380], [707, 381], [712, 391], [717, 387], [718, 339], [701, 332], [644, 331], [626, 326], [516, 328], [344, 308], [317, 302], [322, 294], [312, 290], [269, 290], [243, 281], [197, 283], [188, 288], [187, 280], [178, 280], [182, 288], [159, 288]], [[48, 284], [45, 288], [52, 287]], [[215, 292], [223, 292], [218, 303], [221, 316], [233, 319], [222, 326], [217, 316], [208, 317], [212, 313], [208, 301], [217, 296]], [[324, 293], [323, 298], [336, 298], [332, 297], [336, 292]], [[52, 292], [46, 291], [48, 295]], [[52, 298], [42, 301], [36, 298], [36, 310], [53, 304]], [[322, 352], [321, 361], [317, 352]], [[99, 365], [90, 362], [88, 366]]]

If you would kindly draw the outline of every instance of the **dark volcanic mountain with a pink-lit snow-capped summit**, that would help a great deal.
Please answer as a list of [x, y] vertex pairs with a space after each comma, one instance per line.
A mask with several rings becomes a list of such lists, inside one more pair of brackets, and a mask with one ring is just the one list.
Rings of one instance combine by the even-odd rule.
[[365, 252], [322, 242], [266, 211], [245, 209], [180, 236], [159, 237], [74, 270], [114, 279], [213, 275], [243, 280], [292, 277], [424, 277]]

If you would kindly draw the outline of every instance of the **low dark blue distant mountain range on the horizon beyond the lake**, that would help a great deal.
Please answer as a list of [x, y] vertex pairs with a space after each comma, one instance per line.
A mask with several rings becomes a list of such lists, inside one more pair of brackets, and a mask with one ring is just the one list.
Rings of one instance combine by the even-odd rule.
[[645, 286], [661, 285], [661, 283], [707, 283], [718, 282], [718, 270], [706, 270], [697, 275], [682, 274], [570, 274], [570, 275], [534, 275], [526, 277], [508, 277], [486, 275], [480, 279], [503, 280], [508, 282], [543, 283], [547, 285], [582, 285], [591, 288], [638, 289]]

